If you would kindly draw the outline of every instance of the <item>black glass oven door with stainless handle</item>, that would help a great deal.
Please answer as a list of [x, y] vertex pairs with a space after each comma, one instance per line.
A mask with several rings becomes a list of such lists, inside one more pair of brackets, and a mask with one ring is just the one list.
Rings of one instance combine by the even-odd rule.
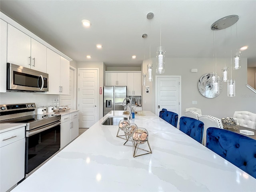
[[26, 176], [60, 150], [60, 121], [26, 131]]

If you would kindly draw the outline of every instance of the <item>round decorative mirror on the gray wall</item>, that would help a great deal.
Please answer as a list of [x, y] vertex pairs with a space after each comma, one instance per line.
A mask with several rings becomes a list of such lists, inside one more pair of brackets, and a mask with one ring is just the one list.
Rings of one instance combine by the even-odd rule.
[[[217, 78], [219, 77], [217, 76]], [[219, 81], [220, 82], [219, 93], [214, 93], [214, 88], [212, 86], [211, 81], [212, 81], [212, 75], [210, 73], [204, 74], [198, 81], [198, 90], [206, 98], [214, 98], [222, 92], [222, 88], [223, 88], [222, 81]]]

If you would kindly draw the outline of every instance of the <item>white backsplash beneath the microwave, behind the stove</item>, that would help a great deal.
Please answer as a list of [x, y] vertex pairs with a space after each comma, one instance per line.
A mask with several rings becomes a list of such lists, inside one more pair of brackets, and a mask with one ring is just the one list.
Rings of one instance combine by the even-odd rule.
[[60, 99], [59, 95], [36, 94], [27, 92], [0, 93], [0, 104], [36, 103], [36, 106], [53, 105], [54, 98]]

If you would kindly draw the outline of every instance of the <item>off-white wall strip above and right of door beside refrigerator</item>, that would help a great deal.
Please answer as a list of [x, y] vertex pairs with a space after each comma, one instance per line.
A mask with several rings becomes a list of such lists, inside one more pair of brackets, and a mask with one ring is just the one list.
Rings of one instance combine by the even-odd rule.
[[[104, 86], [103, 80], [105, 76], [103, 62], [76, 62], [76, 66], [77, 68], [99, 68], [99, 87], [102, 87], [103, 89], [103, 86]], [[103, 94], [99, 95], [99, 119], [101, 119], [102, 116], [103, 116]]]

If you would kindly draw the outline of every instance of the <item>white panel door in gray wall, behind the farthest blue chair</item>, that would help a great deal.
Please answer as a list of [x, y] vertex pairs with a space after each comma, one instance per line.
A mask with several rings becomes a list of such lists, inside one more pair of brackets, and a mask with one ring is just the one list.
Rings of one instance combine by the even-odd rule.
[[162, 108], [177, 113], [180, 116], [180, 77], [156, 77], [156, 114]]

